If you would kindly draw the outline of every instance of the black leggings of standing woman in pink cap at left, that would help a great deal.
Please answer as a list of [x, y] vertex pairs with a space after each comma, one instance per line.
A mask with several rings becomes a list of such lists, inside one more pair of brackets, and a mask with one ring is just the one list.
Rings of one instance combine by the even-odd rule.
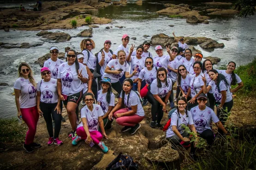
[[[48, 130], [49, 137], [57, 138], [60, 134], [61, 127], [61, 114], [57, 113], [57, 110], [54, 111], [57, 103], [43, 103], [40, 102], [40, 109], [43, 112], [43, 118], [46, 122], [46, 127]], [[52, 123], [52, 117], [54, 118], [54, 129]]]

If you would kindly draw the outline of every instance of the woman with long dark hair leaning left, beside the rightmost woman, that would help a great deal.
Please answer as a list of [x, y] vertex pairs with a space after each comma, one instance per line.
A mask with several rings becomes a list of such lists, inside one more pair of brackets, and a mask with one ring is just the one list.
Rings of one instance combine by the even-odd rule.
[[[231, 111], [233, 107], [232, 93], [228, 82], [222, 74], [219, 74], [217, 70], [209, 70], [208, 75], [211, 78], [211, 82], [207, 86], [206, 76], [202, 77], [203, 93], [208, 93], [210, 89], [213, 90], [214, 98], [216, 100], [217, 116], [222, 124], [225, 124], [227, 113]], [[226, 111], [227, 110], [227, 111]]]

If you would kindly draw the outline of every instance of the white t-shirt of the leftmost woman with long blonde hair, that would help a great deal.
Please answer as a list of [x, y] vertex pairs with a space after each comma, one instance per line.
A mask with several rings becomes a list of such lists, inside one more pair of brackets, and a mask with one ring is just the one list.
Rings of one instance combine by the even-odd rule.
[[36, 106], [36, 87], [24, 77], [19, 77], [14, 83], [14, 89], [20, 90], [20, 108], [30, 108]]

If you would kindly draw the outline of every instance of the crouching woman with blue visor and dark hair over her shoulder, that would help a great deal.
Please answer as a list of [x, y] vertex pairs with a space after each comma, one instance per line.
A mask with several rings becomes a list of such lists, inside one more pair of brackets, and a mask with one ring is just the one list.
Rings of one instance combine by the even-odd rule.
[[[110, 111], [112, 111], [115, 106], [115, 95], [112, 93], [110, 78], [104, 77], [101, 80], [101, 88], [102, 90], [98, 91], [97, 101], [104, 113], [102, 119], [104, 123], [104, 129], [107, 130], [107, 129], [111, 129], [111, 123], [113, 122], [113, 119], [108, 120], [107, 117]], [[101, 132], [100, 129], [99, 131]]]

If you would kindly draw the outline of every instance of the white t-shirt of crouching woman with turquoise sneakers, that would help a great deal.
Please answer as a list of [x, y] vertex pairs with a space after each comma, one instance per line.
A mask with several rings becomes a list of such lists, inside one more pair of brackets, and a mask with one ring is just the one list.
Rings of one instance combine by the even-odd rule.
[[[84, 106], [81, 109], [81, 118], [86, 118], [87, 126], [89, 128], [89, 132], [95, 131], [99, 129], [99, 117], [103, 116], [104, 113], [101, 109], [100, 105], [93, 104], [93, 110], [90, 111], [88, 106]], [[83, 122], [81, 122], [77, 128], [83, 127]]]

